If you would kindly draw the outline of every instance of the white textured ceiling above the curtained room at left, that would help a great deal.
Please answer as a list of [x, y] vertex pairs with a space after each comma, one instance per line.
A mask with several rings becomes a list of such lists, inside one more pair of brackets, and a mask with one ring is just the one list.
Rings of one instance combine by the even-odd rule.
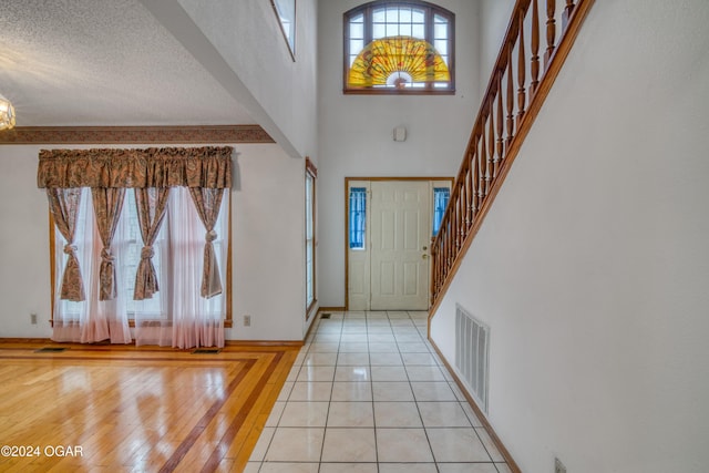
[[256, 123], [138, 0], [1, 0], [18, 126]]

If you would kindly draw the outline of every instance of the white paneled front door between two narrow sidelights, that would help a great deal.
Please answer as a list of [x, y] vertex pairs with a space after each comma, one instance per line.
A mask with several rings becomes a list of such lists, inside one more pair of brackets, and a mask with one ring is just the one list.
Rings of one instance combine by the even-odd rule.
[[371, 182], [370, 310], [428, 310], [431, 184]]

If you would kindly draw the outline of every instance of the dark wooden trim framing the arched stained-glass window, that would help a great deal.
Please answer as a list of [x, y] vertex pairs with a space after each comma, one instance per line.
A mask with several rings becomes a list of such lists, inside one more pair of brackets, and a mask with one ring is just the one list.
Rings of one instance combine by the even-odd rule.
[[[350, 56], [350, 30], [349, 24], [352, 17], [357, 14], [364, 14], [364, 44], [369, 44], [372, 41], [372, 31], [371, 31], [371, 16], [372, 10], [377, 7], [382, 6], [411, 6], [418, 8], [425, 8], [429, 10], [429, 21], [425, 23], [425, 37], [427, 41], [432, 39], [433, 37], [433, 14], [440, 14], [445, 17], [449, 20], [449, 71], [451, 74], [451, 84], [445, 89], [435, 89], [430, 85], [425, 88], [407, 88], [407, 89], [373, 89], [373, 88], [362, 88], [362, 89], [352, 89], [348, 86], [347, 78], [350, 70], [349, 66], [349, 56]], [[345, 12], [342, 16], [342, 43], [343, 43], [343, 54], [342, 54], [342, 93], [351, 94], [351, 95], [454, 95], [455, 94], [455, 13], [452, 11], [440, 7], [434, 3], [430, 3], [422, 0], [401, 0], [401, 1], [392, 1], [392, 0], [374, 0], [369, 3], [363, 3], [359, 7], [354, 7]]]

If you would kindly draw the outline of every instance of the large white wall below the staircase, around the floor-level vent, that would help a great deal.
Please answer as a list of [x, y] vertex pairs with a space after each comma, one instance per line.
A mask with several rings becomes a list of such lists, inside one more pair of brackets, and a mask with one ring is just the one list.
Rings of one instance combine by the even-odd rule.
[[524, 472], [709, 465], [709, 3], [596, 2], [432, 322]]

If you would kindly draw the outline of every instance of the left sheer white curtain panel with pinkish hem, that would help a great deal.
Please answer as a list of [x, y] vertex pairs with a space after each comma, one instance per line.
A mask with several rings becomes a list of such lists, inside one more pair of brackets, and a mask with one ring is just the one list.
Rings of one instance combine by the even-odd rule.
[[[119, 226], [114, 236], [116, 243], [113, 247], [116, 259], [124, 257], [125, 245], [125, 219], [119, 220]], [[119, 244], [121, 241], [121, 244]], [[54, 311], [54, 329], [52, 340], [71, 341], [80, 343], [93, 343], [103, 340], [110, 340], [112, 343], [131, 343], [131, 329], [125, 308], [124, 298], [114, 298], [111, 300], [99, 300], [100, 285], [99, 274], [101, 269], [101, 250], [103, 244], [95, 225], [93, 204], [91, 198], [91, 189], [82, 188], [81, 205], [79, 208], [79, 218], [76, 222], [76, 232], [74, 236], [76, 244], [76, 256], [81, 267], [81, 274], [84, 277], [85, 299], [82, 301], [70, 301], [60, 299], [60, 286], [63, 274], [58, 274], [54, 278], [56, 287], [54, 288], [55, 308]], [[56, 234], [54, 239], [54, 267], [61, 273], [63, 271], [63, 247], [66, 241]], [[124, 292], [123, 268], [116, 268], [117, 291]]]

